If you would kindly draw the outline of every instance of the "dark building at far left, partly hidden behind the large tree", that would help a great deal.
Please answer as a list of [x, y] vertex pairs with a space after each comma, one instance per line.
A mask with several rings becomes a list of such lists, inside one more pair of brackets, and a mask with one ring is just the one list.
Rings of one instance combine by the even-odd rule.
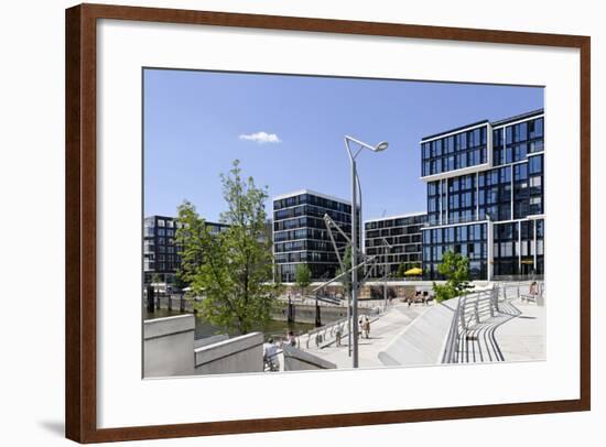
[[[219, 233], [228, 226], [206, 222], [212, 233]], [[174, 217], [149, 216], [143, 219], [143, 282], [150, 284], [154, 275], [162, 282], [174, 282], [181, 264], [180, 248], [175, 244], [178, 222]]]

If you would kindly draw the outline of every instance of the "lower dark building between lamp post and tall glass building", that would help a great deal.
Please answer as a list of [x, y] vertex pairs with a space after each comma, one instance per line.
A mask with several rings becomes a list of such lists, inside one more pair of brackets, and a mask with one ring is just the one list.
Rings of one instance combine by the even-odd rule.
[[366, 254], [379, 257], [378, 264], [370, 272], [370, 277], [382, 276], [383, 269], [387, 269], [388, 275], [397, 275], [400, 265], [403, 265], [404, 270], [421, 268], [422, 228], [426, 222], [426, 212], [366, 220]]

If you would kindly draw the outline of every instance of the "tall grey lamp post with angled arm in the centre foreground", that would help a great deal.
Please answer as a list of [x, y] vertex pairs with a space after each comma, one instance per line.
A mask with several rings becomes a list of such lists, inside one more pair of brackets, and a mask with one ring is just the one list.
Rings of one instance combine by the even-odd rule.
[[[359, 188], [358, 172], [356, 170], [356, 157], [361, 152], [362, 149], [368, 149], [372, 152], [385, 151], [388, 146], [387, 141], [382, 141], [377, 145], [370, 145], [364, 143], [355, 138], [345, 135], [345, 149], [349, 155], [349, 161], [351, 163], [351, 265], [355, 266], [358, 264], [358, 214], [357, 214], [357, 190]], [[359, 145], [359, 149], [354, 153], [351, 151], [350, 143], [356, 143]], [[360, 192], [361, 196], [361, 192]], [[361, 230], [361, 227], [360, 227]], [[361, 231], [360, 231], [361, 232]], [[358, 368], [358, 269], [351, 270], [351, 319], [353, 326], [353, 367]]]

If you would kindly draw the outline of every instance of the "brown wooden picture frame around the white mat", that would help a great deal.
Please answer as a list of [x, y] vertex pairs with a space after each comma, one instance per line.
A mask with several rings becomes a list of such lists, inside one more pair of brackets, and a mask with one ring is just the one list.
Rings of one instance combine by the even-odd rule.
[[[400, 36], [578, 48], [581, 52], [581, 361], [580, 399], [425, 410], [97, 427], [96, 359], [96, 53], [97, 20]], [[154, 439], [421, 421], [494, 417], [591, 408], [591, 40], [588, 36], [354, 22], [223, 12], [82, 4], [66, 10], [66, 436], [79, 443]]]

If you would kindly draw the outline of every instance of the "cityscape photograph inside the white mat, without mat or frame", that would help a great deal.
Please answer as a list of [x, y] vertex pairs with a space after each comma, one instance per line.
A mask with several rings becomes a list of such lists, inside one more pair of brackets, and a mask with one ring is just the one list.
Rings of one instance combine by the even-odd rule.
[[144, 379], [544, 361], [544, 87], [143, 67]]

